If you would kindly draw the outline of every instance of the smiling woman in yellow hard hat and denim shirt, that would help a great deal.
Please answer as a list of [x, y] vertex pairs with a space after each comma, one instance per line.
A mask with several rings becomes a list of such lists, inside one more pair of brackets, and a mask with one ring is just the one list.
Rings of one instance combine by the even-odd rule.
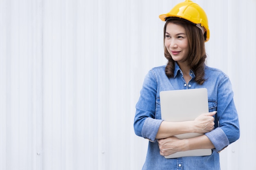
[[[206, 66], [204, 42], [209, 40], [208, 20], [198, 4], [186, 0], [160, 15], [164, 25], [166, 66], [152, 68], [144, 79], [134, 120], [135, 134], [149, 139], [143, 170], [220, 170], [219, 152], [240, 137], [238, 115], [229, 77]], [[193, 121], [161, 119], [160, 91], [207, 88], [209, 113]], [[182, 103], [181, 107], [186, 106]], [[178, 139], [174, 135], [204, 135]], [[209, 156], [164, 156], [176, 152], [212, 149]]]

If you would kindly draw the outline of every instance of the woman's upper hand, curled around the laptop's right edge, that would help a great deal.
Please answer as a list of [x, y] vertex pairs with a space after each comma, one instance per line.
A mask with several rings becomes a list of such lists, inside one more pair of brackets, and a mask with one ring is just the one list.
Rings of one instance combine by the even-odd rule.
[[194, 120], [195, 133], [207, 133], [214, 129], [214, 117], [217, 112], [204, 113]]

